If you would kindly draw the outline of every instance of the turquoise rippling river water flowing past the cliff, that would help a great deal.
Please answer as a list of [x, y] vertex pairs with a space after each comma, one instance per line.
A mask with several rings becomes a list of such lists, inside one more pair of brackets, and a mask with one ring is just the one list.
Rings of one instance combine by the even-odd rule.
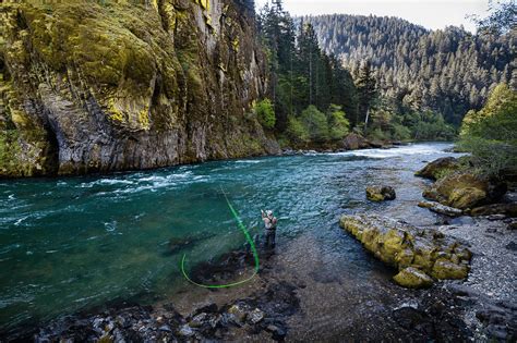
[[[179, 269], [183, 254], [194, 266], [244, 243], [221, 189], [252, 233], [260, 230], [260, 210], [275, 210], [277, 254], [284, 259], [317, 254], [316, 280], [336, 274], [356, 285], [389, 280], [392, 273], [341, 232], [339, 216], [369, 210], [433, 224], [435, 215], [416, 206], [426, 181], [413, 173], [425, 161], [454, 155], [445, 152], [450, 146], [1, 181], [0, 332], [117, 299], [156, 302], [188, 292], [193, 286]], [[364, 188], [374, 184], [394, 186], [397, 199], [368, 201]], [[311, 242], [313, 249], [293, 242]]]

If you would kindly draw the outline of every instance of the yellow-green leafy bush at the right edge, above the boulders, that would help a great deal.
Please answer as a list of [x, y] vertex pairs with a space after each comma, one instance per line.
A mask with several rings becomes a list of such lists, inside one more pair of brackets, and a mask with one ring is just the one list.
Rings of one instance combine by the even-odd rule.
[[459, 147], [472, 154], [482, 172], [517, 168], [517, 91], [501, 84], [484, 107], [464, 119]]

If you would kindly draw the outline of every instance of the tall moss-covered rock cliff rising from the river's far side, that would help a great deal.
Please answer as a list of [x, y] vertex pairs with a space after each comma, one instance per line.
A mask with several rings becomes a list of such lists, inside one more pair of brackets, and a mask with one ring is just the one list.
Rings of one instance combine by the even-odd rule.
[[236, 0], [60, 2], [0, 8], [0, 175], [276, 151], [249, 114], [265, 82], [249, 9]]

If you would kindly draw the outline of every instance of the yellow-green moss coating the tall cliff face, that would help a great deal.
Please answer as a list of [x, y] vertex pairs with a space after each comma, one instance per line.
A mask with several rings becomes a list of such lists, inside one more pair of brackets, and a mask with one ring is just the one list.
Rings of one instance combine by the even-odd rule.
[[[20, 99], [40, 101], [37, 89], [43, 84], [48, 86], [50, 96], [57, 95], [72, 107], [98, 105], [116, 126], [116, 133], [149, 131], [159, 135], [176, 130], [183, 137], [206, 125], [207, 120], [216, 123], [208, 125], [207, 135], [214, 138], [208, 138], [213, 142], [206, 143], [206, 151], [197, 151], [199, 147], [179, 151], [188, 156], [185, 160], [191, 155], [191, 161], [197, 161], [205, 155], [263, 154], [264, 139], [256, 120], [247, 121], [242, 114], [254, 97], [253, 90], [248, 98], [241, 97], [239, 75], [248, 66], [228, 71], [224, 64], [232, 61], [232, 47], [238, 50], [240, 45], [252, 44], [243, 35], [249, 27], [240, 26], [239, 13], [226, 5], [230, 11], [227, 22], [233, 23], [231, 32], [215, 39], [218, 59], [207, 61], [206, 41], [197, 28], [196, 15], [201, 8], [211, 26], [215, 20], [211, 17], [213, 4], [208, 0], [187, 4], [153, 0], [152, 4], [158, 11], [131, 1], [2, 4], [0, 15], [5, 14], [7, 19], [3, 21], [2, 16], [0, 21], [0, 60], [11, 69], [5, 71], [7, 78], [13, 74]], [[219, 61], [225, 61], [219, 69], [227, 73], [223, 81], [218, 78]], [[3, 78], [3, 68], [0, 73]], [[38, 117], [23, 111], [17, 95], [3, 98], [9, 108], [9, 123], [0, 123], [4, 160], [14, 161], [13, 166], [44, 161], [48, 137]], [[36, 105], [40, 108], [46, 103]], [[9, 135], [4, 134], [8, 126], [12, 131]], [[225, 134], [227, 126], [231, 126], [231, 138]], [[69, 128], [75, 130], [65, 127]], [[19, 149], [21, 146], [24, 148]], [[93, 149], [95, 156], [97, 147]], [[183, 161], [182, 156], [179, 159]], [[85, 164], [93, 170], [100, 168], [96, 160]], [[73, 163], [60, 166], [60, 173], [75, 172], [80, 171]]]

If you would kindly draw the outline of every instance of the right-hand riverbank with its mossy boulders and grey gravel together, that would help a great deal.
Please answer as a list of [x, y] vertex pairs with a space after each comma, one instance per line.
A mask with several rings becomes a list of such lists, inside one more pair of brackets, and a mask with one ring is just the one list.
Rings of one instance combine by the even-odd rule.
[[[340, 224], [376, 258], [396, 267], [394, 280], [402, 286], [461, 279], [445, 282], [465, 310], [458, 319], [472, 328], [476, 340], [513, 342], [517, 339], [516, 187], [512, 180], [483, 176], [473, 167], [468, 157], [448, 157], [416, 173], [435, 181], [422, 194], [432, 201], [418, 206], [442, 216], [438, 228], [417, 229], [372, 215], [344, 216]], [[436, 265], [450, 266], [446, 268], [450, 272], [438, 272]]]

